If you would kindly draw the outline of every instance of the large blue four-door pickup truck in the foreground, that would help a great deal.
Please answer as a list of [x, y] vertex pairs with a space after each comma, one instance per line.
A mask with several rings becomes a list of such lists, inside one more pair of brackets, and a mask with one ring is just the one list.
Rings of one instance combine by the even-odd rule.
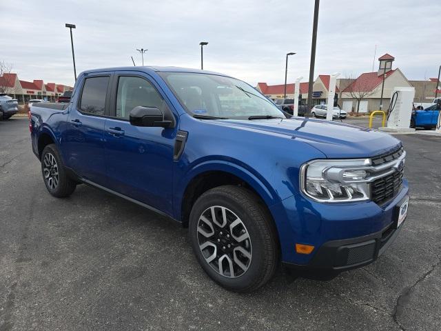
[[280, 262], [323, 273], [367, 265], [407, 215], [400, 141], [291, 117], [215, 72], [86, 71], [70, 103], [31, 107], [30, 132], [50, 194], [86, 183], [181, 222], [203, 270], [237, 292]]

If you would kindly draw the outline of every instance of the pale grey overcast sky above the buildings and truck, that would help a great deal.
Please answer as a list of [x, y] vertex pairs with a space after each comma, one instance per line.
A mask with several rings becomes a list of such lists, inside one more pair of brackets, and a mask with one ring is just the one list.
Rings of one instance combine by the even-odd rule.
[[[141, 65], [204, 68], [253, 86], [309, 76], [314, 0], [0, 1], [0, 61], [20, 79], [74, 83], [69, 30], [76, 24], [76, 70]], [[322, 0], [316, 70], [358, 76], [388, 52], [408, 79], [438, 75], [440, 0]], [[378, 62], [374, 70], [377, 70]]]

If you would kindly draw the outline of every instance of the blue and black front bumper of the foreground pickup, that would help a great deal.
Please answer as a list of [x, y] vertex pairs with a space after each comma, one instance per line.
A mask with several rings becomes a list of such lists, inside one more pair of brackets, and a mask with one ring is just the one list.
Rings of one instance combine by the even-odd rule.
[[[396, 205], [407, 197], [404, 179], [396, 197], [384, 205], [373, 201], [318, 203], [293, 196], [273, 205], [282, 261], [295, 268], [348, 270], [371, 263], [400, 232], [393, 229]], [[311, 254], [296, 252], [296, 243], [313, 245]], [[360, 259], [356, 255], [360, 254]]]

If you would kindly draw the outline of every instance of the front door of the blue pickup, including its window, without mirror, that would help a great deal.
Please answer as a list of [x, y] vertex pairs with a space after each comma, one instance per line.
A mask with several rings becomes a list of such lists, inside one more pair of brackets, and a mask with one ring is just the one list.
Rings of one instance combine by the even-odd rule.
[[177, 129], [145, 128], [129, 122], [130, 111], [136, 106], [171, 112], [171, 105], [154, 80], [141, 72], [116, 72], [111, 94], [104, 138], [108, 187], [171, 214]]

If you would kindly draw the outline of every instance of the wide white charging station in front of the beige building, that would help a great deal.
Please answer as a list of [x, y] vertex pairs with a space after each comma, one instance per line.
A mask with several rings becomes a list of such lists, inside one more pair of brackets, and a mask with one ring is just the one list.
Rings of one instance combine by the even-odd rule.
[[413, 132], [411, 129], [412, 103], [415, 97], [415, 88], [393, 88], [391, 102], [389, 103], [389, 114], [387, 115], [387, 126], [378, 128], [387, 132]]

